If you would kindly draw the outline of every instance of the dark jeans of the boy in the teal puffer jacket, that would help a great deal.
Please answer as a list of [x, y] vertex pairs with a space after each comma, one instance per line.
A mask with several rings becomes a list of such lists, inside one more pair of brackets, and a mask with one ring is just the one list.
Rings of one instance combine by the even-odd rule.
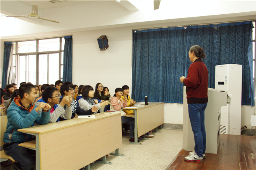
[[35, 151], [18, 146], [18, 143], [8, 146], [4, 151], [21, 165], [22, 170], [31, 170], [36, 163], [35, 156], [31, 156], [35, 155]]

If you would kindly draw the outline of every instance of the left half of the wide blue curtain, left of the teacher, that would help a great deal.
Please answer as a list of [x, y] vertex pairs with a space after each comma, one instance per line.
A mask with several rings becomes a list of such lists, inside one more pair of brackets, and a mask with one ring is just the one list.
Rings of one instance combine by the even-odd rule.
[[183, 27], [133, 31], [132, 96], [182, 103], [178, 76], [185, 73], [187, 31]]

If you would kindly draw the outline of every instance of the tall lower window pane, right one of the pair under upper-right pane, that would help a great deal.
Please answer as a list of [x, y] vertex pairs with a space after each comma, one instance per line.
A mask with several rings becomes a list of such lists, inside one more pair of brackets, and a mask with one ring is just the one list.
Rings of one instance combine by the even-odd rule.
[[49, 54], [49, 84], [59, 80], [59, 53]]

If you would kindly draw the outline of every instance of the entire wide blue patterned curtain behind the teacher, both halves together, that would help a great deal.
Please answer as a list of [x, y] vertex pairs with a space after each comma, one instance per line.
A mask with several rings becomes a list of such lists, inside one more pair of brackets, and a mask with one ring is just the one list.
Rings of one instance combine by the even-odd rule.
[[252, 22], [237, 22], [168, 29], [182, 35], [157, 34], [156, 29], [133, 31], [133, 98], [144, 101], [148, 95], [152, 102], [183, 103], [179, 78], [187, 76], [191, 64], [187, 52], [196, 44], [205, 49], [208, 87], [215, 88], [215, 65], [242, 65], [242, 105], [254, 105], [252, 28]]

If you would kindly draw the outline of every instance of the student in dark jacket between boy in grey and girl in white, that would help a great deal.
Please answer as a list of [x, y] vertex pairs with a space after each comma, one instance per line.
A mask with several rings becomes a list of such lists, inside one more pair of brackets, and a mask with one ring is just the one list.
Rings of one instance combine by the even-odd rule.
[[[61, 96], [60, 102], [61, 102], [62, 98], [65, 96], [70, 95], [71, 97], [74, 97], [74, 88], [73, 87], [74, 87], [74, 85], [71, 82], [65, 82], [62, 84], [62, 86], [61, 86], [61, 95], [62, 96]], [[93, 106], [92, 109], [85, 111], [85, 110], [81, 109], [81, 107], [79, 107], [79, 105], [77, 105], [77, 101], [74, 99], [71, 102], [71, 107], [72, 107], [71, 119], [73, 119], [76, 116], [76, 114], [78, 116], [91, 115], [94, 112], [96, 112], [98, 109], [97, 106]], [[63, 120], [64, 119], [60, 117], [60, 121], [63, 121]]]

